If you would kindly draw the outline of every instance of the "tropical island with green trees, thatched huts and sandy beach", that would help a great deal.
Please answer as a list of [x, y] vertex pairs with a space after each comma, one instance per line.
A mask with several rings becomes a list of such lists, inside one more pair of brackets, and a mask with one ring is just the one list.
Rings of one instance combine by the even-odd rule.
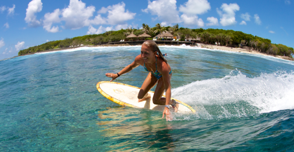
[[[272, 55], [283, 59], [294, 60], [292, 47], [282, 44], [273, 44], [271, 40], [265, 39], [241, 31], [223, 29], [189, 29], [179, 28], [178, 24], [173, 27], [164, 27], [156, 24], [151, 28], [142, 24], [142, 29], [121, 29], [118, 31], [107, 31], [103, 34], [84, 35], [64, 40], [46, 42], [44, 44], [20, 50], [18, 55], [34, 54], [43, 51], [56, 51], [62, 48], [81, 46], [125, 46], [140, 45], [145, 40], [155, 40], [157, 44], [181, 45], [206, 47], [209, 49], [228, 50], [238, 48], [238, 52], [261, 53]], [[236, 49], [235, 49], [236, 51]]]

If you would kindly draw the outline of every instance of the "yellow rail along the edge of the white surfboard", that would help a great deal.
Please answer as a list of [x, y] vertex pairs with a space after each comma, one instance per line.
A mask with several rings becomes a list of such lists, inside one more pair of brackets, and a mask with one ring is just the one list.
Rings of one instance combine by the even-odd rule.
[[[120, 101], [120, 100], [117, 100], [116, 98], [113, 98], [113, 97], [111, 97], [110, 95], [106, 94], [103, 90], [101, 90], [101, 88], [100, 88], [100, 86], [99, 86], [101, 83], [114, 83], [114, 84], [120, 84], [120, 85], [129, 86], [129, 87], [133, 87], [133, 88], [137, 88], [137, 89], [141, 89], [141, 88], [136, 87], [136, 86], [131, 86], [131, 85], [123, 84], [123, 83], [109, 82], [109, 81], [100, 81], [100, 82], [98, 82], [97, 85], [96, 85], [97, 90], [98, 90], [98, 91], [99, 91], [99, 92], [100, 92], [105, 98], [111, 100], [112, 102], [117, 103], [117, 104], [122, 105], [122, 106], [136, 107], [136, 106], [134, 106], [134, 105], [130, 105], [130, 104], [128, 104], [128, 103], [125, 103], [125, 102], [122, 102], [122, 101]], [[149, 91], [149, 92], [154, 93], [154, 91]], [[165, 95], [163, 95], [163, 96], [165, 97]], [[176, 100], [176, 99], [174, 99], [174, 98], [171, 98], [171, 99]], [[191, 106], [187, 105], [186, 103], [183, 103], [183, 102], [181, 102], [181, 101], [179, 101], [179, 100], [176, 100], [176, 101], [177, 101], [178, 103], [181, 103], [182, 105], [188, 107], [193, 113], [196, 112], [195, 109], [193, 109]]]

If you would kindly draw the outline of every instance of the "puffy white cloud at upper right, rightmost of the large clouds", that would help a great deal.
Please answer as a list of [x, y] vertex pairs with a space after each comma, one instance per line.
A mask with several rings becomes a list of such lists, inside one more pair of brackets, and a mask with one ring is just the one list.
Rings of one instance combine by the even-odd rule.
[[235, 20], [235, 11], [239, 11], [240, 7], [238, 4], [226, 4], [223, 3], [220, 8], [223, 11], [220, 11], [218, 8], [216, 8], [216, 11], [220, 15], [220, 24], [223, 26], [230, 26], [235, 25], [237, 21]]

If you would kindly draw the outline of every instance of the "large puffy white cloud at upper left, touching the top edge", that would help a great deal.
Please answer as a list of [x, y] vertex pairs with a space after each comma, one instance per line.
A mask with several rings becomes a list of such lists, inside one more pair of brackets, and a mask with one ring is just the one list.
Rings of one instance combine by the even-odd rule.
[[66, 28], [78, 29], [89, 24], [88, 20], [94, 12], [94, 6], [86, 7], [82, 1], [70, 0], [69, 6], [62, 10], [62, 20], [65, 21]]

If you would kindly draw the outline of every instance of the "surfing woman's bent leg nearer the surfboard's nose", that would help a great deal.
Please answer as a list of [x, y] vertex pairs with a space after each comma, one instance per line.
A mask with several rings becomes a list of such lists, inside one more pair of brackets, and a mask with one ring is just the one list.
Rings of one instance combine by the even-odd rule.
[[157, 81], [157, 78], [149, 72], [138, 93], [138, 102], [144, 101], [151, 97], [148, 92], [155, 86]]

